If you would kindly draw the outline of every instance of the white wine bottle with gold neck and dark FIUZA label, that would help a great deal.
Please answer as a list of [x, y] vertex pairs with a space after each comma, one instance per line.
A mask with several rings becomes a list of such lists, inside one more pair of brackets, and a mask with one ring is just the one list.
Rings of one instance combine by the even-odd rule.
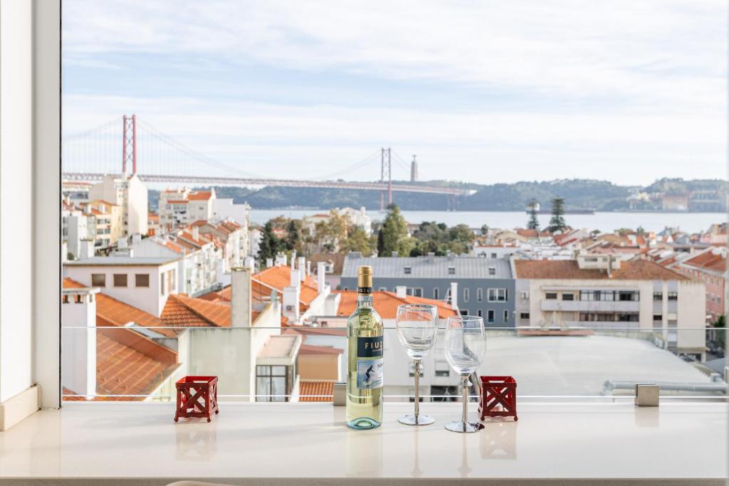
[[347, 321], [347, 425], [382, 423], [383, 326], [372, 305], [372, 267], [357, 269], [357, 308]]

